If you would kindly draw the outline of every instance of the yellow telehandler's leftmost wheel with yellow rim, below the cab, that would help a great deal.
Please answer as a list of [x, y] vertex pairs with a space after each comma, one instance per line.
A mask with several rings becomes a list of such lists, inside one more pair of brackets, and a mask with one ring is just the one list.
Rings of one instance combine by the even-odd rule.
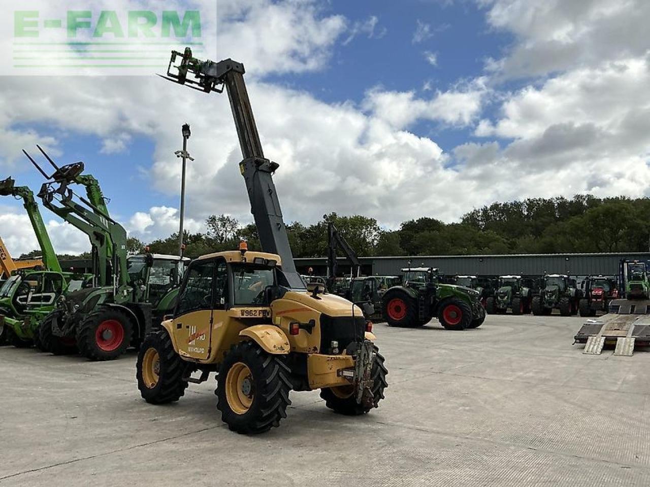
[[185, 395], [187, 381], [183, 381], [185, 362], [174, 350], [172, 338], [166, 330], [149, 333], [138, 352], [135, 378], [142, 399], [149, 404], [167, 404]]

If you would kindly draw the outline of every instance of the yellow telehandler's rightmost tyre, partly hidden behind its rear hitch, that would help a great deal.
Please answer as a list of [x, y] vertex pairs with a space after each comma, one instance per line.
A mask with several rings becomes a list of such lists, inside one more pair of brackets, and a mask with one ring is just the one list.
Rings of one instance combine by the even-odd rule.
[[325, 399], [325, 405], [339, 414], [346, 416], [359, 416], [366, 414], [373, 407], [378, 407], [379, 401], [383, 399], [383, 390], [388, 387], [386, 382], [386, 375], [388, 370], [383, 364], [384, 358], [379, 353], [379, 349], [374, 347], [374, 361], [372, 362], [372, 406], [364, 406], [357, 404], [356, 397], [354, 397], [354, 386], [338, 386], [322, 388], [320, 390], [320, 397]]

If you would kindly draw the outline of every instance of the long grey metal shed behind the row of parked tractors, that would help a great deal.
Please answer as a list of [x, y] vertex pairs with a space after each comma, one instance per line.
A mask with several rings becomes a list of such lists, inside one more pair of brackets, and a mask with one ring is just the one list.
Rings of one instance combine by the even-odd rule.
[[[621, 258], [650, 260], [649, 252], [598, 254], [517, 254], [517, 255], [417, 255], [404, 257], [362, 257], [362, 273], [366, 275], [396, 275], [408, 267], [437, 267], [445, 274], [504, 275], [567, 273], [575, 276], [591, 274], [615, 275]], [[311, 267], [316, 274], [326, 271], [326, 258], [296, 258], [299, 271]], [[341, 273], [350, 266], [339, 259]]]

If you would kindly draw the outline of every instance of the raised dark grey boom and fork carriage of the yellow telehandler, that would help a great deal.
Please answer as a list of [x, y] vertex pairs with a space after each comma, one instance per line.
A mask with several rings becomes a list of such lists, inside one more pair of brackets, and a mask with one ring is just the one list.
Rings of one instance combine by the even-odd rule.
[[[174, 66], [177, 58], [181, 59], [181, 64]], [[178, 72], [172, 73], [172, 69], [177, 69]], [[244, 72], [244, 65], [231, 59], [220, 62], [198, 60], [192, 57], [192, 50], [187, 47], [184, 53], [172, 51], [167, 76], [164, 78], [179, 84], [188, 84], [191, 88], [205, 93], [222, 93], [224, 88], [226, 89], [243, 156], [239, 168], [246, 181], [251, 212], [257, 225], [262, 250], [280, 256], [286, 286], [304, 289], [305, 284], [293, 262], [287, 228], [282, 219], [272, 178], [279, 164], [264, 157], [246, 91]], [[193, 75], [194, 79], [188, 79], [188, 75]]]

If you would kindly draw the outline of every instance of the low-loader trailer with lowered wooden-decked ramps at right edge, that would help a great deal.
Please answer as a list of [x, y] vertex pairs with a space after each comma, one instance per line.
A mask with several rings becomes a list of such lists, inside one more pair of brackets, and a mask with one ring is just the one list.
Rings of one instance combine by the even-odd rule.
[[634, 347], [650, 344], [650, 301], [617, 301], [612, 312], [582, 325], [575, 336], [576, 343], [585, 343], [582, 353], [599, 355], [604, 345], [616, 343], [614, 355], [632, 356]]

